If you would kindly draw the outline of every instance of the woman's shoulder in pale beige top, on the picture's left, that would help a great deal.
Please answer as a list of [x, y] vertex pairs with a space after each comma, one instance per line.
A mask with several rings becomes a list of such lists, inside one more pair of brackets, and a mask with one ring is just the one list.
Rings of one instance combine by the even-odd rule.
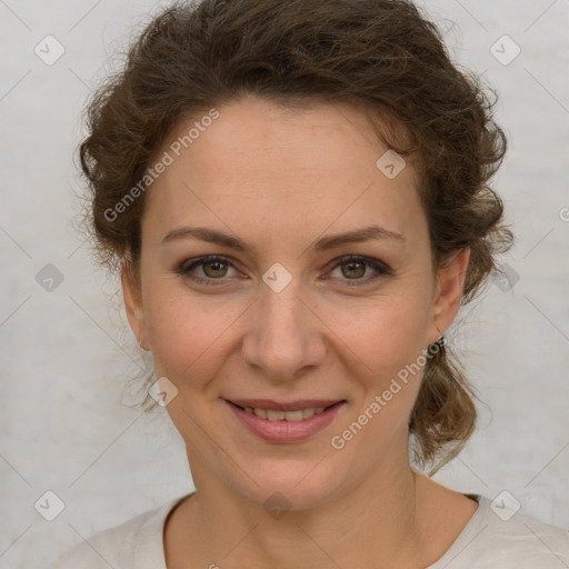
[[54, 569], [166, 569], [163, 525], [168, 513], [183, 498], [94, 533], [63, 555]]

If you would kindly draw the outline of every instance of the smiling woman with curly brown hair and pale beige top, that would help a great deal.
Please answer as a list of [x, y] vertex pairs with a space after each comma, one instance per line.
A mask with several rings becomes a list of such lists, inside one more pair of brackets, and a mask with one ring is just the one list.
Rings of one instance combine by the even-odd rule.
[[196, 492], [59, 567], [569, 566], [566, 531], [419, 469], [475, 429], [443, 333], [512, 242], [491, 107], [403, 0], [147, 27], [80, 156]]

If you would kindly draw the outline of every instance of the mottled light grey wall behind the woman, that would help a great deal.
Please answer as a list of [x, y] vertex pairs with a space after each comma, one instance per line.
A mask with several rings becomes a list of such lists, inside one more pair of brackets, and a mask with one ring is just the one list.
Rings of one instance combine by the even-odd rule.
[[[421, 4], [500, 93], [510, 150], [496, 186], [518, 238], [503, 259], [513, 287], [491, 283], [449, 337], [485, 405], [471, 443], [436, 478], [489, 498], [508, 490], [523, 513], [568, 528], [569, 0]], [[106, 296], [118, 282], [73, 229], [81, 107], [157, 6], [0, 0], [0, 568], [46, 566], [193, 489], [166, 411], [122, 405], [139, 350]], [[52, 66], [33, 51], [47, 34], [66, 49]], [[508, 66], [490, 53], [503, 34], [521, 48]], [[51, 292], [36, 280], [47, 263], [63, 274]], [[66, 503], [51, 522], [34, 509], [47, 490]]]

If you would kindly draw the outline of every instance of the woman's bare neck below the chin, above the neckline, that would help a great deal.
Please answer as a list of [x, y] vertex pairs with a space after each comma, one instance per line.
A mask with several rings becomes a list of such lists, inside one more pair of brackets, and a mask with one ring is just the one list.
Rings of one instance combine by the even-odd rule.
[[180, 512], [186, 532], [179, 533], [183, 543], [177, 545], [196, 567], [325, 563], [397, 569], [425, 567], [426, 556], [432, 553], [426, 518], [418, 509], [426, 506], [426, 485], [433, 482], [410, 468], [408, 455], [391, 458], [350, 487], [331, 490], [310, 509], [291, 509], [282, 517], [271, 517], [262, 501], [243, 497], [219, 479], [212, 483], [211, 472], [196, 467], [197, 493]]

